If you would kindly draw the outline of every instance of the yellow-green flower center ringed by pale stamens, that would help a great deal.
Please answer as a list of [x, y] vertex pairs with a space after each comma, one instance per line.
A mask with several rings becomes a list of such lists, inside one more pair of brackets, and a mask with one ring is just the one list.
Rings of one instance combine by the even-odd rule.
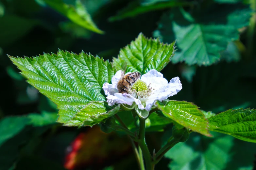
[[[130, 86], [128, 89], [128, 93], [130, 93], [134, 98], [141, 100], [142, 102], [146, 102], [148, 97], [152, 94], [152, 88], [150, 84], [147, 84], [142, 80], [137, 80], [133, 86]], [[155, 89], [153, 89], [155, 90]]]

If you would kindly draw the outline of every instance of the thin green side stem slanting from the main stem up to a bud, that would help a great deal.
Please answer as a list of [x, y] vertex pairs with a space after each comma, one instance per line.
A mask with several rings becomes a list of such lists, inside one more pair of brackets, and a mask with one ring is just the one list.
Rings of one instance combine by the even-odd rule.
[[168, 142], [156, 153], [154, 164], [157, 164], [162, 159], [163, 155], [177, 143], [179, 143], [179, 141], [171, 136]]

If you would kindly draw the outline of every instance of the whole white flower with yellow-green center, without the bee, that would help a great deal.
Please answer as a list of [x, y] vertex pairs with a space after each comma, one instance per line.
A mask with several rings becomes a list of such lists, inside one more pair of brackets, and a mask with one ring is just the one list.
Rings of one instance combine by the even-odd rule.
[[[129, 74], [129, 73], [127, 73]], [[103, 90], [107, 95], [107, 102], [109, 106], [115, 103], [132, 105], [136, 103], [140, 110], [150, 111], [151, 107], [155, 105], [157, 100], [163, 101], [170, 96], [177, 94], [182, 85], [179, 77], [172, 78], [170, 82], [163, 78], [162, 73], [157, 70], [150, 70], [141, 76], [141, 81], [137, 80], [129, 89], [129, 93], [119, 93], [117, 90], [117, 82], [121, 78], [121, 70], [117, 71], [111, 79], [112, 84], [104, 83]], [[143, 86], [141, 88], [139, 86]], [[139, 89], [137, 88], [139, 87]], [[140, 115], [142, 116], [142, 115]], [[145, 118], [147, 115], [143, 115]]]

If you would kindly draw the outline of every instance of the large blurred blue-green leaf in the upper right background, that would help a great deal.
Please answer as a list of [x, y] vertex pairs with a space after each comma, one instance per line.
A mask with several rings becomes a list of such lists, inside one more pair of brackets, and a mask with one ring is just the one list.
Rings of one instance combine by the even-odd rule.
[[[218, 13], [216, 13], [216, 10]], [[249, 24], [252, 10], [242, 4], [211, 6], [211, 9], [172, 10], [165, 13], [154, 36], [164, 42], [177, 39], [178, 51], [172, 62], [211, 65], [229, 42], [239, 39], [238, 29]]]

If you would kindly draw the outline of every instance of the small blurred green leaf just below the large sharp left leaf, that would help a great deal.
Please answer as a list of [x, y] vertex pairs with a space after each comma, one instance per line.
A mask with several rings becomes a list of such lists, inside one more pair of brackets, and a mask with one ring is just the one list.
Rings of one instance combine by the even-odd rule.
[[28, 124], [33, 126], [44, 126], [55, 123], [58, 119], [58, 114], [43, 111], [41, 114], [30, 113], [27, 117], [30, 119]]

